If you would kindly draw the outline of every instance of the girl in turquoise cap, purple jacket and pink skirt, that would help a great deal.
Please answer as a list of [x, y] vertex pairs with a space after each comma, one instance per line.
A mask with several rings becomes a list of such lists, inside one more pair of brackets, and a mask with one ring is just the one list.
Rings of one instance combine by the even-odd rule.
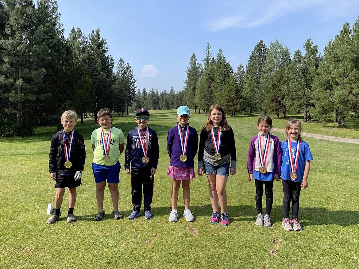
[[194, 221], [190, 210], [190, 180], [195, 177], [194, 157], [198, 148], [198, 134], [195, 128], [190, 127], [188, 120], [191, 117], [190, 109], [182, 105], [177, 109], [178, 123], [169, 129], [167, 136], [167, 151], [171, 158], [167, 175], [172, 178], [171, 203], [169, 221], [177, 222], [178, 190], [182, 182], [183, 201], [185, 210], [183, 217], [186, 221]]

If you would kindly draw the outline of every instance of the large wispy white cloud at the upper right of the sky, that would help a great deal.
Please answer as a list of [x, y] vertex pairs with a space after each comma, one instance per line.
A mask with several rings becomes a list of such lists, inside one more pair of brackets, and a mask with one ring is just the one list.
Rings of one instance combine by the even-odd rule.
[[247, 5], [241, 2], [238, 1], [238, 6], [231, 6], [227, 11], [227, 14], [232, 15], [207, 20], [204, 27], [210, 32], [220, 32], [229, 28], [254, 28], [270, 24], [288, 14], [303, 11], [313, 11], [321, 20], [331, 20], [344, 17], [359, 8], [357, 0], [342, 0], [340, 4], [336, 0], [253, 0], [247, 2]]

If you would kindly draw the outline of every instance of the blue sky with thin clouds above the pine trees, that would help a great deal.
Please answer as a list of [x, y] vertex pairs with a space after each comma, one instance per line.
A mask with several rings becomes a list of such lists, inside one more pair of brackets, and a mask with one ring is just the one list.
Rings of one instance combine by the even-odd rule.
[[[292, 56], [311, 38], [323, 54], [328, 41], [345, 22], [359, 15], [358, 0], [222, 0], [122, 1], [58, 0], [65, 36], [71, 27], [88, 35], [100, 29], [115, 66], [120, 58], [135, 73], [139, 89], [177, 92], [184, 87], [194, 52], [203, 63], [205, 48], [212, 56], [222, 49], [234, 71], [245, 67], [262, 39], [267, 47], [279, 41]], [[114, 70], [116, 71], [116, 70]]]

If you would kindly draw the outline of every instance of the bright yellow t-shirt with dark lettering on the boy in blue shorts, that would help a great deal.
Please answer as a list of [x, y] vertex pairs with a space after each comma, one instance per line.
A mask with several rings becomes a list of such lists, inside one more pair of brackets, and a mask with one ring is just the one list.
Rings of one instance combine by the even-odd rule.
[[[105, 161], [103, 159], [103, 156], [105, 154], [102, 147], [101, 129], [102, 127], [94, 129], [91, 134], [91, 144], [95, 145], [95, 149], [93, 151], [93, 162], [95, 164], [101, 164], [107, 166], [115, 165], [120, 158], [120, 144], [125, 143], [125, 136], [123, 136], [121, 129], [112, 127], [111, 140], [109, 141], [110, 149], [108, 153], [110, 159], [109, 161]], [[110, 129], [107, 130], [103, 129], [105, 134], [105, 139], [107, 139], [109, 130]]]

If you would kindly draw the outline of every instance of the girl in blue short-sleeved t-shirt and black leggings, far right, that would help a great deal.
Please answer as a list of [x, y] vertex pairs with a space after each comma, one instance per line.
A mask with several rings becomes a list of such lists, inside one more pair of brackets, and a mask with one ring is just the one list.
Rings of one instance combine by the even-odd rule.
[[[309, 145], [302, 140], [302, 124], [299, 119], [289, 119], [285, 126], [285, 141], [280, 142], [282, 149], [281, 178], [283, 184], [282, 225], [287, 231], [302, 231], [298, 221], [299, 195], [301, 189], [308, 188], [310, 161], [313, 160]], [[292, 222], [289, 219], [292, 200]]]

